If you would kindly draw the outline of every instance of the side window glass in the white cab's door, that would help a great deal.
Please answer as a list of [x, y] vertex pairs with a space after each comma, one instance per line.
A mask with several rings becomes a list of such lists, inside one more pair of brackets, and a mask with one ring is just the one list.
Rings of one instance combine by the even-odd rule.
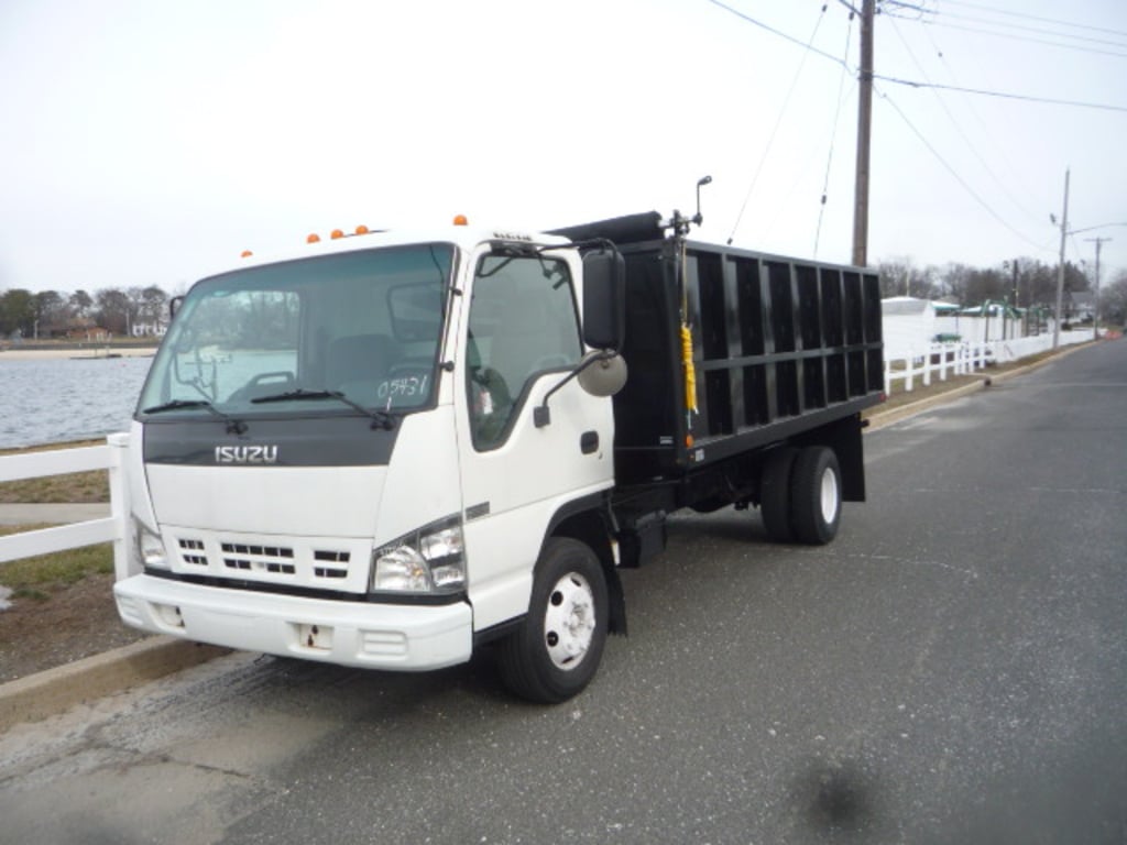
[[486, 256], [470, 303], [467, 390], [479, 451], [503, 444], [533, 381], [579, 362], [583, 345], [564, 261]]

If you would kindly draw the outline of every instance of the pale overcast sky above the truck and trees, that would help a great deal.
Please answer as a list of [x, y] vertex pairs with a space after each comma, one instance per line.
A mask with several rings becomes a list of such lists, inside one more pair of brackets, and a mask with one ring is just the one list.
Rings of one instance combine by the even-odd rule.
[[[880, 8], [870, 264], [1055, 264], [1071, 169], [1067, 259], [1127, 267], [1127, 5]], [[859, 39], [844, 0], [5, 0], [0, 291], [691, 214], [706, 175], [695, 239], [848, 263]]]

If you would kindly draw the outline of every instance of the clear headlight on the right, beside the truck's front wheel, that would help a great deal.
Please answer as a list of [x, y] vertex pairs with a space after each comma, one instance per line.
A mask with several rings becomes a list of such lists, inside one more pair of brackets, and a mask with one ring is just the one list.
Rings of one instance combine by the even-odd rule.
[[372, 552], [373, 593], [451, 594], [465, 589], [462, 522], [425, 525]]

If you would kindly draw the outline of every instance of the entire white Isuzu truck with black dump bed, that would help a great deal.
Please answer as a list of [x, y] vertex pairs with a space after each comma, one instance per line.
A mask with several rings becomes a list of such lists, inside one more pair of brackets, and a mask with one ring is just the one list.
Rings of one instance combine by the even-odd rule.
[[689, 239], [367, 232], [178, 303], [131, 432], [130, 625], [379, 669], [496, 651], [559, 702], [678, 508], [825, 543], [863, 500], [877, 276]]

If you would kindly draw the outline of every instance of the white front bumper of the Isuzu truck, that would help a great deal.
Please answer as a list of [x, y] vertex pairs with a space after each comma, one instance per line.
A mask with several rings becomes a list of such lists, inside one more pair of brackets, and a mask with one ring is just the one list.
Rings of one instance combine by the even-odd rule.
[[283, 657], [417, 671], [470, 659], [465, 602], [334, 602], [207, 587], [137, 575], [114, 585], [126, 624], [196, 642]]

